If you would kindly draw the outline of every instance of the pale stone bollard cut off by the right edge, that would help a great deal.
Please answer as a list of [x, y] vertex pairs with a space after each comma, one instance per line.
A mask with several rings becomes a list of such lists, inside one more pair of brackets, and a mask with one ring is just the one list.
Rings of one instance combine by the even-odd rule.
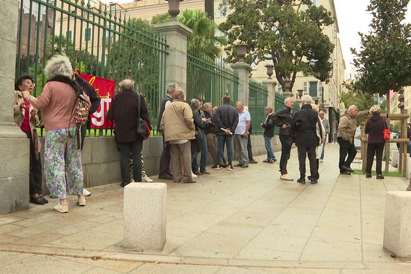
[[410, 212], [410, 191], [387, 192], [383, 247], [400, 258], [411, 258]]

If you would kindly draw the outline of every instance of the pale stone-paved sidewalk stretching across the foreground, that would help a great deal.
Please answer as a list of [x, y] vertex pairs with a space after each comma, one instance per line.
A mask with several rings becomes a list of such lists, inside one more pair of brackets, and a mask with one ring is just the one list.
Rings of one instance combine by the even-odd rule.
[[[406, 179], [340, 176], [338, 145], [327, 145], [316, 185], [281, 181], [264, 158], [197, 184], [167, 181], [160, 253], [123, 251], [119, 183], [90, 188], [84, 208], [69, 197], [68, 214], [49, 199], [1, 215], [0, 273], [411, 273], [411, 261], [382, 249], [386, 191]], [[289, 173], [299, 177], [295, 149]]]

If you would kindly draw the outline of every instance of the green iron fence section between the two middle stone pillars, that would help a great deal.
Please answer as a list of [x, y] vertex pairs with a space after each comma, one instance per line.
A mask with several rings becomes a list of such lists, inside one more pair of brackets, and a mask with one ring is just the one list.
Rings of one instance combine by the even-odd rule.
[[223, 96], [231, 97], [232, 105], [238, 98], [238, 73], [226, 64], [200, 55], [196, 51], [187, 53], [187, 101], [201, 97], [212, 105], [221, 105]]

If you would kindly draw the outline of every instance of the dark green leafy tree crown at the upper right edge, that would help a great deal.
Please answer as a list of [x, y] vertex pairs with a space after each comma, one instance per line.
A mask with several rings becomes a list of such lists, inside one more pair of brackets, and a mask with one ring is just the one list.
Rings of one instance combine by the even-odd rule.
[[387, 94], [411, 85], [411, 25], [403, 23], [410, 0], [371, 0], [369, 34], [361, 34], [353, 63], [360, 77], [353, 84], [368, 93]]

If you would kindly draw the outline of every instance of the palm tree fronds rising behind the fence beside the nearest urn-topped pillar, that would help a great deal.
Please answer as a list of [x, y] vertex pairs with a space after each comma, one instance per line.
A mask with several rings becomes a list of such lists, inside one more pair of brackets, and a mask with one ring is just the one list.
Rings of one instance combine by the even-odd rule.
[[[221, 56], [223, 49], [216, 46], [216, 43], [226, 45], [227, 40], [224, 37], [214, 36], [218, 25], [212, 21], [206, 12], [202, 10], [184, 10], [177, 16], [177, 20], [192, 29], [192, 34], [188, 36], [187, 40], [188, 49], [195, 49], [200, 54], [210, 58], [219, 58]], [[158, 14], [153, 17], [151, 23], [155, 25], [169, 21], [171, 21], [169, 14]]]

